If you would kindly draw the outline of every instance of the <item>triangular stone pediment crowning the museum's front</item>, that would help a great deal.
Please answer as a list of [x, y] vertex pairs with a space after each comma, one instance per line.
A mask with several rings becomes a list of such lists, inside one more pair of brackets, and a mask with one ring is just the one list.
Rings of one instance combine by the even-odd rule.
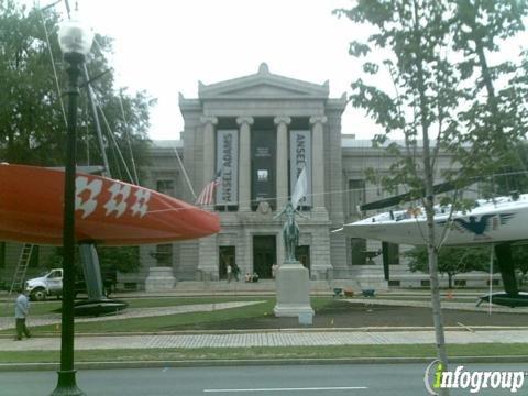
[[261, 64], [256, 74], [221, 82], [199, 82], [198, 97], [207, 99], [327, 99], [328, 81], [318, 85], [270, 73]]

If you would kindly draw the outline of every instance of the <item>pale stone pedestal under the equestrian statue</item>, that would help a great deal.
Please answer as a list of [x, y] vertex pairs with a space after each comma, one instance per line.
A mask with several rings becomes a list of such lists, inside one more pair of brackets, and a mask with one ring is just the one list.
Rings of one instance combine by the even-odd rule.
[[[277, 270], [277, 304], [273, 309], [276, 317], [301, 317], [306, 321], [314, 316], [310, 305], [310, 280], [308, 270], [299, 262], [284, 263]], [[305, 324], [311, 324], [306, 323]]]

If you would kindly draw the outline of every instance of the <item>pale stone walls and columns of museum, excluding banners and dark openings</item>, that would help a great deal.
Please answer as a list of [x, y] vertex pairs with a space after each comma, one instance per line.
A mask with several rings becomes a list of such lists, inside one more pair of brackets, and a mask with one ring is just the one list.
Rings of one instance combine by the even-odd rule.
[[[316, 85], [278, 76], [272, 74], [265, 64], [254, 75], [211, 85], [199, 82], [196, 99], [179, 96], [179, 108], [185, 120], [182, 140], [155, 142], [147, 187], [156, 188], [160, 177], [169, 175], [164, 173], [172, 167], [175, 169], [170, 176], [176, 186], [174, 195], [194, 201], [218, 170], [215, 162], [218, 155], [216, 134], [222, 129], [235, 129], [238, 132], [239, 173], [238, 200], [234, 205], [228, 210], [212, 205], [207, 207], [208, 210], [218, 211], [222, 228], [220, 233], [175, 244], [177, 248], [174, 252], [178, 254], [173, 257], [173, 266], [178, 280], [222, 278], [222, 249], [228, 248], [231, 250], [230, 260], [240, 267], [242, 274], [262, 271], [256, 263], [258, 253], [255, 253], [258, 237], [271, 237], [275, 242], [273, 258], [266, 265], [283, 262], [283, 223], [273, 217], [292, 194], [288, 187], [292, 176], [287, 170], [292, 165], [288, 136], [301, 124], [311, 133], [312, 201], [311, 207], [302, 211], [305, 218], [298, 220], [301, 231], [299, 245], [305, 246], [299, 254], [304, 254], [305, 264], [310, 268], [310, 278], [349, 279], [356, 283], [358, 287], [387, 287], [381, 256], [354, 262], [353, 241], [341, 233], [331, 232], [360, 218], [362, 213], [358, 212], [356, 206], [387, 197], [378, 186], [369, 185], [364, 169], [373, 167], [382, 173], [388, 172], [394, 161], [385, 150], [374, 148], [370, 140], [362, 141], [342, 134], [341, 114], [345, 105], [344, 95], [329, 98], [328, 82]], [[266, 206], [256, 206], [251, 188], [252, 178], [255, 177], [252, 169], [252, 136], [263, 119], [268, 121], [268, 133], [276, 139], [276, 200], [270, 200]], [[170, 145], [173, 147], [168, 148]], [[175, 148], [184, 158], [189, 183], [177, 165]], [[439, 170], [450, 166], [449, 156], [440, 156], [439, 161]], [[376, 252], [381, 248], [381, 242], [365, 241], [362, 249]], [[155, 251], [155, 246], [143, 249]], [[392, 284], [424, 286], [428, 275], [409, 273], [405, 258], [399, 255], [406, 249], [409, 246], [395, 246], [391, 263]], [[268, 277], [270, 273], [260, 275]], [[484, 286], [486, 275], [472, 274], [471, 279], [472, 285], [480, 279]]]

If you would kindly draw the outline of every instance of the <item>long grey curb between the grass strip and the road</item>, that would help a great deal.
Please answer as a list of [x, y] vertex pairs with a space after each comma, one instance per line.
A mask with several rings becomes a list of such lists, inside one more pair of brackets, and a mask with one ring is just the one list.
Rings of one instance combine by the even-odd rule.
[[[112, 369], [176, 369], [221, 366], [274, 366], [274, 365], [331, 365], [331, 364], [428, 364], [436, 358], [343, 358], [343, 359], [266, 359], [266, 360], [188, 360], [188, 361], [130, 361], [78, 362], [76, 370]], [[453, 356], [450, 363], [527, 363], [528, 356]], [[1, 363], [0, 372], [57, 371], [58, 363]]]

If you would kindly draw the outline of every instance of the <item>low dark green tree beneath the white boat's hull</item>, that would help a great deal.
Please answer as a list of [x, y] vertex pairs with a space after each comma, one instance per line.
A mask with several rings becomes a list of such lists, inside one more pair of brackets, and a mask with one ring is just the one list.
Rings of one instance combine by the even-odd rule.
[[[427, 250], [424, 246], [414, 248], [405, 255], [409, 257], [409, 270], [413, 272], [429, 272]], [[444, 246], [438, 254], [438, 272], [448, 275], [448, 287], [453, 287], [457, 274], [471, 271], [488, 271], [488, 246]], [[495, 268], [498, 270], [498, 268]]]

